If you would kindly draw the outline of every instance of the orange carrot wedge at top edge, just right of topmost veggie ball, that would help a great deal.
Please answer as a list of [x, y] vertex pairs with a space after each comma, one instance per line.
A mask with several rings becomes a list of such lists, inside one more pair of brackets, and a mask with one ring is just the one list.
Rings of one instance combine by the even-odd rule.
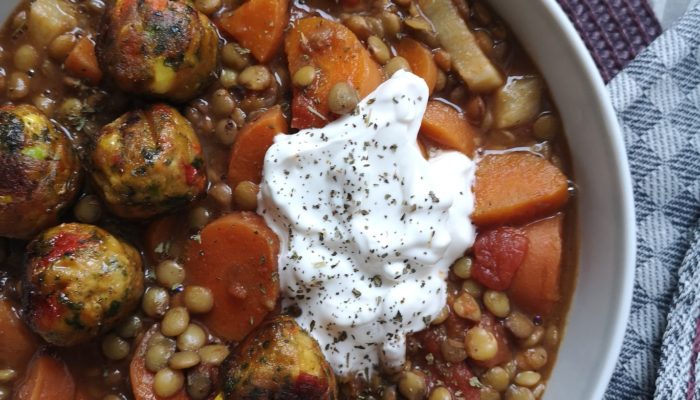
[[274, 57], [289, 22], [289, 0], [248, 0], [216, 21], [260, 63]]

